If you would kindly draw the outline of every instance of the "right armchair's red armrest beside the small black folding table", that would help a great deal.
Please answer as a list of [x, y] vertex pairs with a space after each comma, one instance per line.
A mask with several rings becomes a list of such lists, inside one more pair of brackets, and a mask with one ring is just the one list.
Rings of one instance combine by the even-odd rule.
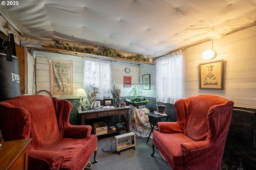
[[158, 122], [158, 131], [162, 133], [182, 133], [183, 124], [177, 122]]

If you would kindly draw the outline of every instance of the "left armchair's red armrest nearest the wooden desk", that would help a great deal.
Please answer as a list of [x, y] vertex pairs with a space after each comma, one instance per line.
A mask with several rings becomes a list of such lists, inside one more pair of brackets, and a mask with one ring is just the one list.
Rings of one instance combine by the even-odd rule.
[[62, 131], [64, 138], [85, 139], [91, 135], [90, 125], [70, 125]]

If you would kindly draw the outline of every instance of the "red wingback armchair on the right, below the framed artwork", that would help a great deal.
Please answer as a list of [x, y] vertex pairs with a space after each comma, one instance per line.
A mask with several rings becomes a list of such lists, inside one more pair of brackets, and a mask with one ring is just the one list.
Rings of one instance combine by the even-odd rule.
[[173, 170], [220, 170], [234, 102], [199, 95], [177, 100], [177, 121], [159, 122], [154, 145]]

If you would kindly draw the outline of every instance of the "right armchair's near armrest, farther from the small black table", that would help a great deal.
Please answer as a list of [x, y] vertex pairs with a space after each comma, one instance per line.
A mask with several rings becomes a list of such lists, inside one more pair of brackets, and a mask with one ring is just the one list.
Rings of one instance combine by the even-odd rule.
[[202, 149], [207, 149], [207, 147], [210, 147], [212, 143], [210, 141], [196, 141], [196, 142], [188, 142], [188, 143], [181, 143], [181, 151], [182, 154], [188, 154], [189, 152], [194, 152], [196, 150], [200, 150], [202, 152]]

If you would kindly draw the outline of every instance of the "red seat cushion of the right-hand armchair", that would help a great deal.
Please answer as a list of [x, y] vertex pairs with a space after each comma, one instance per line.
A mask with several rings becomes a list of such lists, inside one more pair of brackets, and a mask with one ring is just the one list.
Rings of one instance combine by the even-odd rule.
[[153, 143], [168, 163], [171, 161], [174, 164], [183, 164], [183, 155], [180, 149], [180, 144], [186, 142], [193, 142], [193, 140], [183, 133], [153, 132]]

